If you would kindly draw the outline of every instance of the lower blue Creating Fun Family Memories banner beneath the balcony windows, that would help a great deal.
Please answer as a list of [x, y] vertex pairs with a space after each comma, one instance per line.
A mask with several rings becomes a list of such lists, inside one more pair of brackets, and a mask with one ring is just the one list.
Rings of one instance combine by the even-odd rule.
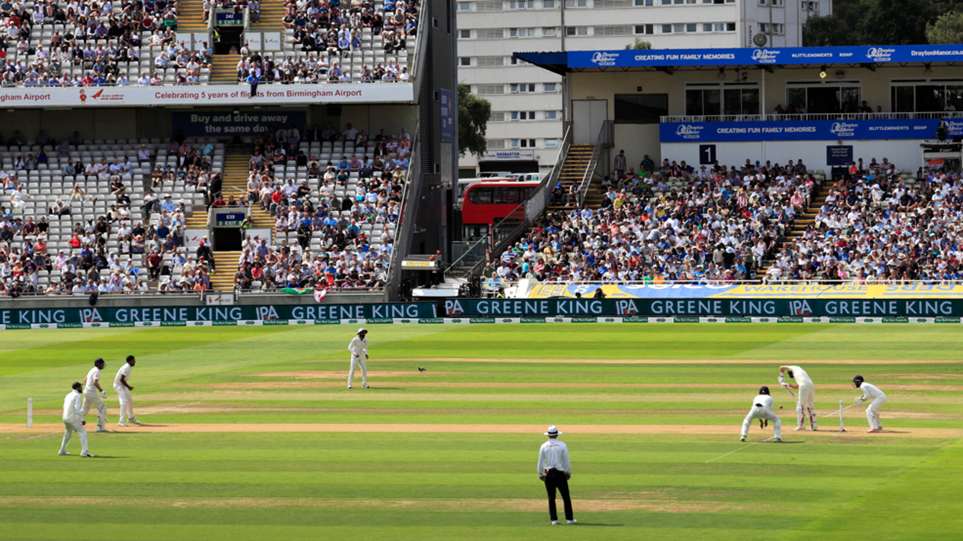
[[[663, 143], [694, 141], [823, 141], [933, 139], [939, 119], [753, 120], [747, 122], [663, 122]], [[963, 135], [963, 121], [947, 119], [951, 137]]]

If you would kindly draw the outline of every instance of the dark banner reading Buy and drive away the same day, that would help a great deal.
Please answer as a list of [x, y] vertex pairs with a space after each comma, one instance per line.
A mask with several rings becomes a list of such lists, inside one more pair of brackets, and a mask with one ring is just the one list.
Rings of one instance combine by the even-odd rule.
[[233, 114], [228, 111], [171, 114], [171, 133], [177, 130], [186, 137], [233, 137], [267, 134], [279, 127], [294, 125], [301, 129], [307, 122], [304, 111]]

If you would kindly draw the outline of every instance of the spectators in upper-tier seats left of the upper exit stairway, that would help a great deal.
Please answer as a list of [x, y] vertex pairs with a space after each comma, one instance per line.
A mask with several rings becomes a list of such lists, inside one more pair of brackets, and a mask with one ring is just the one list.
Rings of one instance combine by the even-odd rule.
[[2, 86], [199, 84], [211, 62], [206, 47], [195, 51], [175, 40], [176, 1], [45, 0], [31, 12], [23, 6], [0, 4]]

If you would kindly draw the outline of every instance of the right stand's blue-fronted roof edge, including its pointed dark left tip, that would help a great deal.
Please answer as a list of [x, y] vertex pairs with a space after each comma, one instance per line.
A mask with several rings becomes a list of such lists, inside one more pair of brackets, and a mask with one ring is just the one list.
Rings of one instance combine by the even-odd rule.
[[515, 53], [516, 58], [564, 75], [571, 71], [618, 68], [671, 71], [679, 68], [813, 66], [900, 67], [907, 64], [963, 63], [963, 45], [786, 47], [767, 49], [623, 49]]

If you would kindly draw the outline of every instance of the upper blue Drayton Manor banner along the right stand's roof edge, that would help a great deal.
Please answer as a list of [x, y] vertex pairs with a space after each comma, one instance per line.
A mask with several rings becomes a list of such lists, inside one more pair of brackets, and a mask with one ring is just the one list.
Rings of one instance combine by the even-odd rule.
[[963, 45], [569, 51], [569, 68], [961, 62]]

